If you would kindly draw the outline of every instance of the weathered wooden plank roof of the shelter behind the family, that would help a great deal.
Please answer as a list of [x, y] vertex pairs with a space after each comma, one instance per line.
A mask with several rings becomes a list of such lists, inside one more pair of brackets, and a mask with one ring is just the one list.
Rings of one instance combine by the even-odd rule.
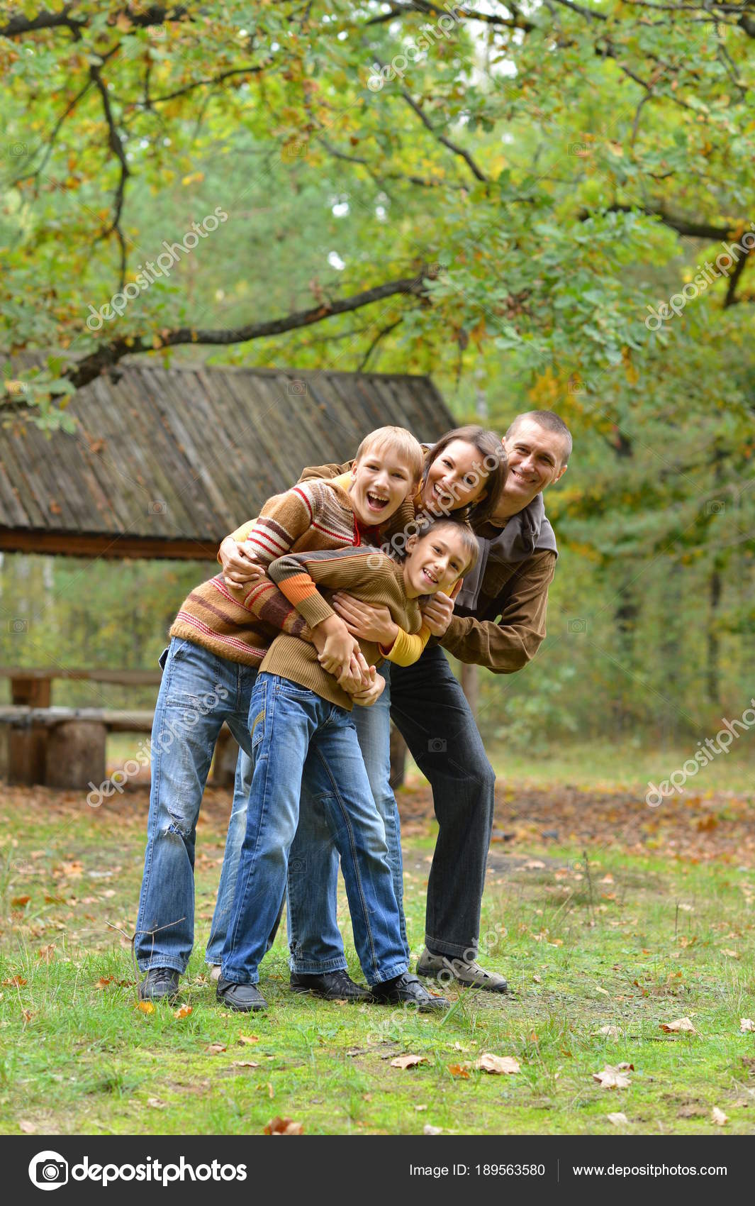
[[0, 550], [213, 558], [304, 466], [384, 423], [433, 441], [429, 377], [125, 363], [71, 399], [75, 434], [0, 428]]

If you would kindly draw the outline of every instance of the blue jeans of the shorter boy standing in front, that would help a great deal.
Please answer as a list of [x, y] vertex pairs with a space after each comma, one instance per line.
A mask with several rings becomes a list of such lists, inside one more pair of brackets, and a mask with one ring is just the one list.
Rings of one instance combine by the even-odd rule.
[[364, 976], [370, 984], [400, 976], [409, 965], [385, 827], [350, 714], [297, 683], [263, 673], [252, 691], [248, 726], [254, 768], [223, 979], [234, 984], [259, 979], [258, 966], [286, 891], [303, 777], [341, 856]]

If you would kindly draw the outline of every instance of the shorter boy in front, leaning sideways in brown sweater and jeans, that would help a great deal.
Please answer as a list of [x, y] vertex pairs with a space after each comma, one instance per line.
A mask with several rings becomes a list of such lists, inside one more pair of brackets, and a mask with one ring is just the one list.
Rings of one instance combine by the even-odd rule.
[[[374, 549], [288, 554], [274, 561], [269, 576], [305, 619], [324, 632], [326, 649], [346, 658], [353, 639], [317, 584], [349, 590], [368, 603], [386, 605], [399, 628], [420, 631], [420, 598], [450, 591], [475, 563], [476, 537], [467, 525], [440, 520], [406, 541], [398, 564]], [[387, 651], [362, 642], [374, 662]], [[374, 678], [374, 702], [385, 683]], [[445, 1009], [416, 976], [409, 976], [400, 913], [387, 861], [385, 827], [369, 788], [351, 697], [326, 672], [312, 645], [281, 634], [262, 666], [250, 709], [253, 774], [246, 837], [217, 997], [239, 1011], [264, 1009], [256, 988], [258, 965], [286, 890], [288, 850], [299, 819], [302, 775], [326, 809], [341, 868], [362, 970], [379, 1003], [410, 1002], [421, 1011]]]

